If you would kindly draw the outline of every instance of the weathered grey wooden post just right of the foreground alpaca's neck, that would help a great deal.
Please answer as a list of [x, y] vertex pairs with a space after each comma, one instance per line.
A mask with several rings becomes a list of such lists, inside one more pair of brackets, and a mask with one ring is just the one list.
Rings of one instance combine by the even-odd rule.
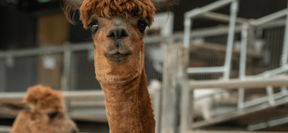
[[174, 133], [179, 129], [181, 80], [188, 64], [188, 49], [182, 44], [166, 45], [163, 65], [161, 133]]

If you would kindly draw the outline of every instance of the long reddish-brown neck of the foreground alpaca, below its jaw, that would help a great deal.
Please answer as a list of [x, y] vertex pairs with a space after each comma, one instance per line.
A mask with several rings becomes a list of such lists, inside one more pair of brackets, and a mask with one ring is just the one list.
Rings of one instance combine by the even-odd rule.
[[155, 120], [144, 69], [129, 83], [100, 81], [100, 84], [105, 95], [110, 133], [154, 133]]

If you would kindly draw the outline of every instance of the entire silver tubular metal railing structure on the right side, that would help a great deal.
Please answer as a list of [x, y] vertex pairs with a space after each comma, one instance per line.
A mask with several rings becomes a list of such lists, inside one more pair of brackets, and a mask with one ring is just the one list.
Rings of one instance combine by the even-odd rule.
[[[220, 14], [215, 12], [210, 12], [216, 9], [219, 9], [223, 6], [230, 4], [230, 15]], [[288, 19], [286, 20], [277, 20], [283, 16], [287, 16], [288, 10], [284, 9], [273, 14], [269, 14], [267, 16], [261, 17], [259, 19], [245, 19], [237, 17], [239, 0], [219, 0], [209, 5], [206, 5], [202, 8], [196, 8], [191, 11], [188, 11], [184, 14], [184, 48], [189, 48], [191, 46], [191, 38], [195, 38], [191, 36], [191, 25], [193, 19], [197, 18], [206, 18], [216, 21], [224, 21], [229, 22], [228, 29], [228, 37], [227, 37], [227, 45], [226, 45], [226, 55], [224, 66], [213, 66], [213, 67], [190, 67], [184, 68], [183, 74], [179, 74], [186, 79], [187, 74], [195, 74], [195, 73], [223, 73], [222, 80], [209, 80], [209, 81], [186, 81], [179, 80], [179, 84], [182, 84], [182, 93], [181, 93], [181, 124], [179, 131], [189, 132], [193, 128], [198, 128], [204, 125], [211, 125], [215, 123], [219, 123], [221, 121], [227, 121], [231, 118], [236, 118], [239, 116], [243, 116], [245, 114], [263, 110], [265, 108], [269, 108], [272, 106], [286, 104], [288, 101], [285, 99], [287, 96], [287, 76], [285, 72], [288, 71]], [[284, 22], [284, 23], [283, 23]], [[240, 47], [240, 60], [239, 60], [239, 78], [235, 80], [229, 80], [230, 71], [231, 71], [231, 57], [232, 57], [232, 46], [234, 43], [234, 34], [235, 31], [239, 31], [237, 29], [236, 23], [240, 23], [240, 31], [241, 31], [241, 47]], [[285, 34], [284, 34], [284, 43], [281, 55], [280, 67], [265, 71], [258, 75], [245, 75], [245, 66], [246, 66], [246, 56], [247, 56], [247, 47], [248, 43], [251, 43], [254, 39], [254, 35], [251, 34], [251, 30], [254, 30], [255, 27], [266, 27], [268, 23], [275, 23], [275, 25], [281, 23], [281, 25], [285, 25]], [[269, 27], [269, 26], [267, 26]], [[186, 51], [182, 51], [186, 52]], [[187, 53], [180, 53], [183, 55], [187, 55]], [[187, 57], [186, 57], [187, 58]], [[186, 63], [183, 63], [187, 65]], [[180, 71], [181, 73], [181, 71]], [[284, 73], [284, 77], [279, 77], [281, 73]], [[275, 76], [275, 77], [274, 77]], [[278, 76], [278, 78], [277, 78]], [[179, 78], [179, 77], [178, 77]], [[275, 78], [275, 79], [273, 79]], [[273, 81], [273, 82], [272, 82]], [[274, 93], [273, 87], [280, 87], [281, 91], [279, 93]], [[254, 87], [254, 88], [266, 88], [267, 96], [261, 97], [259, 99], [255, 99], [252, 101], [244, 102], [244, 89]], [[193, 89], [195, 88], [238, 88], [238, 104], [237, 111], [231, 112], [226, 115], [215, 116], [212, 121], [197, 121], [192, 124], [192, 112], [193, 112]], [[286, 117], [284, 117], [286, 118]], [[283, 118], [283, 119], [284, 119]], [[283, 119], [275, 119], [278, 123], [283, 123]], [[285, 119], [286, 120], [286, 119]], [[279, 122], [281, 121], [281, 122]], [[285, 121], [287, 123], [288, 121]], [[271, 123], [268, 121], [264, 123], [265, 126], [261, 128], [267, 127], [267, 123]], [[275, 122], [276, 123], [276, 122]], [[261, 123], [263, 125], [263, 123]], [[260, 125], [261, 125], [260, 124]], [[269, 124], [268, 124], [269, 125]], [[270, 124], [273, 125], [273, 124]], [[275, 124], [274, 124], [275, 125]], [[256, 128], [258, 126], [258, 128]], [[248, 130], [261, 129], [259, 125], [250, 125]]]

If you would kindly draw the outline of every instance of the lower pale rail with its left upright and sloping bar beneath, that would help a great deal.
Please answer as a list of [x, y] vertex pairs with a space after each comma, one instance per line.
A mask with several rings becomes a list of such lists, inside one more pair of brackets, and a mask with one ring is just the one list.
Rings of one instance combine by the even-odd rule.
[[201, 127], [204, 125], [215, 124], [228, 119], [237, 118], [251, 112], [267, 109], [273, 106], [278, 106], [281, 104], [288, 103], [288, 100], [285, 98], [287, 94], [281, 95], [280, 97], [276, 96], [278, 94], [272, 94], [268, 97], [273, 97], [272, 102], [261, 103], [257, 106], [250, 108], [245, 108], [242, 110], [237, 110], [225, 115], [216, 116], [212, 121], [198, 121], [192, 122], [193, 118], [193, 89], [195, 88], [223, 88], [223, 89], [235, 89], [235, 88], [261, 88], [266, 86], [287, 86], [288, 77], [287, 76], [278, 76], [271, 78], [254, 78], [249, 80], [241, 79], [230, 79], [230, 80], [209, 80], [209, 81], [185, 81], [183, 82], [183, 91], [182, 91], [182, 100], [181, 100], [181, 113], [180, 113], [180, 132], [188, 133], [195, 127]]

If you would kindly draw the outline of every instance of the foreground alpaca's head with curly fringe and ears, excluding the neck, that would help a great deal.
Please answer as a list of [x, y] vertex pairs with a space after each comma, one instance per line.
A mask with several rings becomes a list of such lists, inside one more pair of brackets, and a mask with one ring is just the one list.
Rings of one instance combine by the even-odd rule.
[[92, 32], [99, 81], [122, 83], [142, 73], [144, 31], [153, 22], [154, 5], [150, 0], [66, 1], [67, 18], [71, 10], [79, 10], [84, 28]]

